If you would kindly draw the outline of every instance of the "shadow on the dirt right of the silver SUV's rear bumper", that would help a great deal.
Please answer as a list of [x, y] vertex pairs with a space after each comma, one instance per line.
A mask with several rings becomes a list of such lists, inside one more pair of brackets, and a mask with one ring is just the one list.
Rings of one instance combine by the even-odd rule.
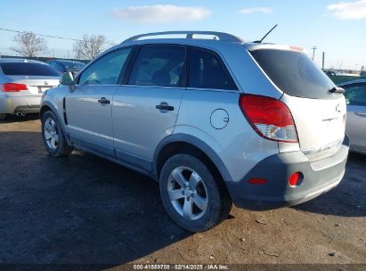
[[366, 217], [365, 171], [366, 155], [350, 152], [345, 177], [335, 189], [293, 208], [339, 217]]

